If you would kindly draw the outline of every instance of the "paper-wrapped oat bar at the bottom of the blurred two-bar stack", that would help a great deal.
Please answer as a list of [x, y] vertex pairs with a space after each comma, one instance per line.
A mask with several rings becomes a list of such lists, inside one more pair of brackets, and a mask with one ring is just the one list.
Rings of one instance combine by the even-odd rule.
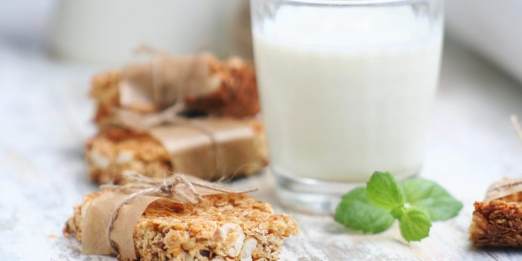
[[150, 132], [120, 127], [102, 130], [86, 143], [90, 180], [119, 183], [125, 170], [150, 177], [177, 171], [217, 180], [251, 175], [266, 166], [267, 150], [260, 120], [219, 118], [200, 122], [215, 131], [217, 151], [209, 136], [181, 125]]

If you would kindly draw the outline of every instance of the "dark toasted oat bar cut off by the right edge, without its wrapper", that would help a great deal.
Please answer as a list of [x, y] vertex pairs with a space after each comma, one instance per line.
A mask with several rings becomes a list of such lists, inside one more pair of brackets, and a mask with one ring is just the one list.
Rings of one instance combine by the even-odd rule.
[[475, 246], [522, 246], [522, 193], [475, 202], [469, 228]]

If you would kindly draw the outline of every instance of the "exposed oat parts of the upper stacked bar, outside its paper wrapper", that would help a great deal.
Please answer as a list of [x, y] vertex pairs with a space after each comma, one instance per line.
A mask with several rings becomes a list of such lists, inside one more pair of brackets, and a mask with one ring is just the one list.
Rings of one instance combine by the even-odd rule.
[[[208, 64], [213, 79], [219, 80], [215, 92], [203, 96], [187, 97], [185, 102], [190, 111], [213, 116], [247, 117], [260, 111], [255, 71], [251, 63], [241, 58], [219, 61], [216, 58]], [[120, 106], [118, 84], [122, 78], [120, 70], [110, 70], [95, 75], [91, 81], [90, 96], [97, 103], [95, 122], [103, 125], [115, 109]], [[150, 113], [159, 108], [140, 107], [134, 111]]]

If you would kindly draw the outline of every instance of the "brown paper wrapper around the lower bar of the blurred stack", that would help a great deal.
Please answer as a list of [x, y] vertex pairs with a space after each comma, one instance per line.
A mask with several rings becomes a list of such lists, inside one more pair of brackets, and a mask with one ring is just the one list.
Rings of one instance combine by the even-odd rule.
[[255, 120], [207, 118], [191, 120], [191, 125], [153, 127], [148, 133], [167, 150], [175, 171], [209, 179], [266, 163], [264, 139], [254, 124]]

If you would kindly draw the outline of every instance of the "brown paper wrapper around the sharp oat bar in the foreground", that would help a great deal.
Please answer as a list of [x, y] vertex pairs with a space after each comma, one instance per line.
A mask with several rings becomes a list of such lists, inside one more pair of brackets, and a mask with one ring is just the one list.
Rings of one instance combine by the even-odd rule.
[[[187, 180], [204, 182], [196, 177], [186, 176]], [[212, 184], [216, 186], [216, 184]], [[223, 193], [214, 189], [196, 187], [201, 196], [214, 195]], [[116, 254], [111, 247], [111, 243], [107, 237], [109, 230], [109, 222], [111, 214], [118, 203], [125, 200], [129, 193], [134, 191], [126, 191], [122, 193], [117, 191], [103, 191], [100, 196], [95, 198], [86, 210], [84, 222], [82, 224], [81, 253], [86, 255], [112, 255]], [[190, 191], [185, 191], [190, 194]], [[187, 200], [179, 196], [171, 196], [164, 198], [161, 196], [139, 196], [131, 202], [123, 205], [118, 212], [118, 216], [113, 224], [111, 240], [120, 252], [122, 258], [136, 260], [134, 251], [134, 227], [137, 221], [145, 211], [145, 209], [157, 200], [168, 200], [174, 203], [189, 203]]]

